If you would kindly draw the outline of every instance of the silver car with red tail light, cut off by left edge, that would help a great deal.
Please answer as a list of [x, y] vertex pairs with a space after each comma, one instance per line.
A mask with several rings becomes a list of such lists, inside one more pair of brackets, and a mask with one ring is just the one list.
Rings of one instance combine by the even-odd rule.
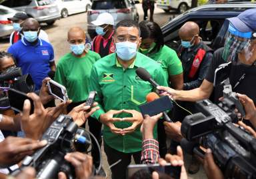
[[13, 24], [8, 18], [13, 17], [17, 12], [14, 9], [0, 5], [0, 37], [5, 37], [13, 32]]

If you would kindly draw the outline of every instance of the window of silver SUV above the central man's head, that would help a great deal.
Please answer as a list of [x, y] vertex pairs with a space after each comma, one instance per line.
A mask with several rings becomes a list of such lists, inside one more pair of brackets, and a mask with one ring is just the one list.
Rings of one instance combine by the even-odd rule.
[[124, 9], [127, 8], [123, 0], [93, 1], [91, 9]]

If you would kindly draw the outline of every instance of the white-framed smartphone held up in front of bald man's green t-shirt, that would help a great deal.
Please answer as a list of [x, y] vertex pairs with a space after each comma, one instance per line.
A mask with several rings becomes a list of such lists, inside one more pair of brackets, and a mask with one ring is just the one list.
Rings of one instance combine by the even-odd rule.
[[47, 86], [50, 94], [55, 96], [55, 98], [58, 98], [63, 102], [67, 102], [67, 100], [69, 100], [69, 97], [67, 96], [67, 90], [63, 85], [57, 83], [56, 81], [50, 80], [47, 81]]

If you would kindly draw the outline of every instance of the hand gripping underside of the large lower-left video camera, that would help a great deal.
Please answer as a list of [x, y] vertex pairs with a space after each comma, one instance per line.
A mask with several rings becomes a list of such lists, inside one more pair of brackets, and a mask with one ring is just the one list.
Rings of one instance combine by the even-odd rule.
[[[77, 179], [87, 179], [93, 171], [93, 158], [81, 152], [72, 152], [65, 155], [65, 160], [75, 167]], [[67, 179], [63, 172], [59, 172], [59, 179]]]

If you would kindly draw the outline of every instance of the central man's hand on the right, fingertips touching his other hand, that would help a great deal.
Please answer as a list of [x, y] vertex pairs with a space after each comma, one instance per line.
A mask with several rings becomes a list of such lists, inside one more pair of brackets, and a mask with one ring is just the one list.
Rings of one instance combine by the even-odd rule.
[[137, 110], [123, 110], [123, 112], [132, 114], [132, 117], [129, 118], [123, 118], [123, 121], [127, 121], [127, 122], [132, 122], [133, 124], [131, 124], [131, 126], [127, 127], [127, 128], [123, 128], [123, 131], [121, 132], [121, 134], [125, 135], [125, 134], [129, 134], [131, 132], [134, 132], [135, 129], [141, 125], [141, 123], [143, 122], [143, 116], [141, 114], [141, 112], [138, 112]]

